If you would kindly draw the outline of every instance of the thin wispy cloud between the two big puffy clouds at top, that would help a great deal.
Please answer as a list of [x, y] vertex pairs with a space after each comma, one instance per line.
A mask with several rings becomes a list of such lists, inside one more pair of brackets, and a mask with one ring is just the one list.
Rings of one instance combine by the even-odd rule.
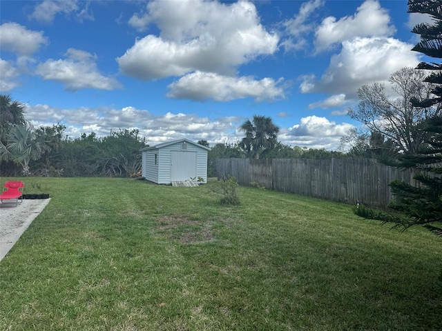
[[311, 22], [311, 15], [314, 14], [318, 8], [324, 6], [324, 0], [310, 0], [302, 3], [298, 14], [293, 19], [289, 19], [282, 23], [285, 26], [286, 32], [289, 34], [289, 39], [282, 41], [282, 46], [286, 50], [302, 50], [305, 49], [307, 42], [307, 35], [313, 32], [315, 25]]

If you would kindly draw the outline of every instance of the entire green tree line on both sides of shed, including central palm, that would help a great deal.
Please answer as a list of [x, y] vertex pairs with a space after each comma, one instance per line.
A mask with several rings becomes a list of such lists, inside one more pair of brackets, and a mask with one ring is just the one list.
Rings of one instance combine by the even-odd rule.
[[[146, 138], [137, 129], [121, 129], [106, 137], [95, 132], [78, 138], [65, 134], [66, 126], [33, 128], [25, 106], [0, 94], [0, 176], [129, 177], [140, 171]], [[291, 148], [277, 141], [278, 127], [270, 117], [255, 115], [242, 125], [245, 137], [234, 143], [216, 143], [209, 150], [209, 177], [216, 175], [215, 160], [229, 157], [311, 159], [345, 157], [325, 149]], [[209, 146], [205, 140], [198, 141]]]

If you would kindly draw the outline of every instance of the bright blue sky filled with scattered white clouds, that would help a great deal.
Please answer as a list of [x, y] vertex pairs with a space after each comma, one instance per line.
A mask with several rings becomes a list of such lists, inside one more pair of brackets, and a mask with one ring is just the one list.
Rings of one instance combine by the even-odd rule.
[[234, 142], [253, 114], [336, 150], [357, 90], [422, 60], [407, 1], [4, 1], [0, 92], [69, 137]]

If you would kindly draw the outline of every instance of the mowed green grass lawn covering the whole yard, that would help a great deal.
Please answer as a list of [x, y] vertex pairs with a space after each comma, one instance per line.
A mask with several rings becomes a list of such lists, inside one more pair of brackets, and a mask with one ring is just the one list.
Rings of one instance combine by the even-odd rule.
[[52, 200], [0, 262], [0, 330], [441, 329], [424, 228], [257, 188], [220, 205], [216, 181], [23, 181]]

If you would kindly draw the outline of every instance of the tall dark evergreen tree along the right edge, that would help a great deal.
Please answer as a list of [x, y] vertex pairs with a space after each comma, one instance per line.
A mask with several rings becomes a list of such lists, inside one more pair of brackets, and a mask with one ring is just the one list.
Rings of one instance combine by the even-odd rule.
[[[430, 14], [434, 24], [420, 23], [412, 32], [421, 34], [421, 41], [412, 48], [429, 57], [442, 58], [442, 1], [409, 0], [408, 12]], [[424, 81], [434, 84], [427, 98], [410, 100], [414, 107], [441, 109], [442, 102], [442, 65], [441, 63], [419, 63], [416, 69], [431, 70], [432, 73]], [[395, 200], [392, 208], [401, 210], [409, 217], [396, 219], [394, 222], [405, 227], [414, 224], [425, 224], [442, 221], [442, 117], [434, 115], [423, 123], [425, 141], [421, 149], [410, 155], [404, 155], [398, 168], [414, 168], [414, 179], [420, 183], [418, 187], [401, 181], [390, 183]]]

